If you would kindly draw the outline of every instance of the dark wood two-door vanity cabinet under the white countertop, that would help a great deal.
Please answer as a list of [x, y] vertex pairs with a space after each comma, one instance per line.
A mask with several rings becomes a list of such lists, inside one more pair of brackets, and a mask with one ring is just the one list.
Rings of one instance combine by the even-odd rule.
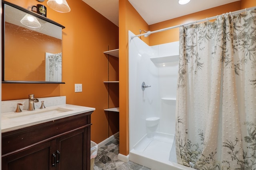
[[2, 133], [2, 170], [90, 170], [91, 113]]

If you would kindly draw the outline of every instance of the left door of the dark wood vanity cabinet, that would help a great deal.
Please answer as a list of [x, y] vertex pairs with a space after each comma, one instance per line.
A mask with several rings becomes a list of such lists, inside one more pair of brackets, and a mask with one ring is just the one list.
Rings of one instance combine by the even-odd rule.
[[51, 142], [2, 157], [2, 170], [50, 170]]

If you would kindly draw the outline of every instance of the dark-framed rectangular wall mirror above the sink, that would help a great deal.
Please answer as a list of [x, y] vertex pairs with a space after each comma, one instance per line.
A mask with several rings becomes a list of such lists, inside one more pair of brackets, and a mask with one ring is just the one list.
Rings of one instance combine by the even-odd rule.
[[64, 83], [64, 26], [10, 2], [2, 7], [2, 82]]

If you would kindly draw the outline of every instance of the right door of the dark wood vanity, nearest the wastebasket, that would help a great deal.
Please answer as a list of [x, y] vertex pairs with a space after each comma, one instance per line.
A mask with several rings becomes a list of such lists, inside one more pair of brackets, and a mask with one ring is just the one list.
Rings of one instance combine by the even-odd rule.
[[64, 135], [56, 142], [60, 152], [59, 170], [87, 170], [87, 128]]

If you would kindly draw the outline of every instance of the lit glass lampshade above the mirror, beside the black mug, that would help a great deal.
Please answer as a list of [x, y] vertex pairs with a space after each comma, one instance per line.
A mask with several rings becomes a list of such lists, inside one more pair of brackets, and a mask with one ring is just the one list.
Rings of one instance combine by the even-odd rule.
[[48, 0], [47, 5], [58, 12], [70, 12], [70, 7], [66, 0]]

